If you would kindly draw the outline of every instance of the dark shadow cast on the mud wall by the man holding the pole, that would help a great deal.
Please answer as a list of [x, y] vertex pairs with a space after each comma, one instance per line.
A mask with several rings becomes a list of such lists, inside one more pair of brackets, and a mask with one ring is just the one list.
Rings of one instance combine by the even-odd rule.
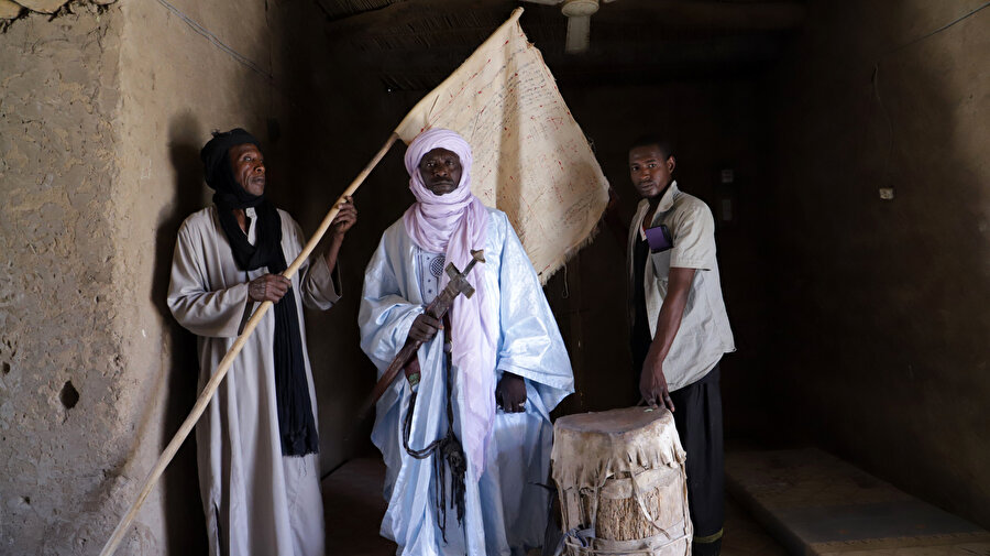
[[[162, 446], [178, 430], [193, 410], [198, 394], [199, 362], [196, 358], [196, 337], [172, 317], [166, 305], [172, 254], [183, 221], [201, 206], [202, 164], [200, 124], [190, 113], [172, 119], [168, 126], [168, 153], [175, 171], [174, 203], [158, 216], [155, 237], [155, 269], [152, 282], [152, 303], [158, 309], [170, 349], [165, 372], [168, 373], [165, 422], [162, 424]], [[176, 453], [163, 476], [165, 534], [169, 554], [207, 554], [207, 535], [199, 495], [196, 443], [193, 435]]]

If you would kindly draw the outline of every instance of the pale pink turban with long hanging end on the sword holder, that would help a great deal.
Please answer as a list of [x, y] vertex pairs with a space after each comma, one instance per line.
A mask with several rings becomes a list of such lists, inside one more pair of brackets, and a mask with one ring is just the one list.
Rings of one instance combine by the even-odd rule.
[[[419, 175], [419, 161], [433, 149], [447, 149], [461, 159], [461, 182], [447, 195], [435, 195]], [[416, 203], [406, 210], [403, 224], [413, 241], [427, 252], [444, 253], [448, 263], [464, 270], [472, 249], [485, 249], [488, 211], [471, 193], [471, 145], [464, 138], [446, 129], [424, 131], [406, 149], [406, 171]], [[485, 304], [484, 264], [479, 263], [468, 275], [474, 286], [469, 299], [454, 299], [450, 310], [452, 360], [457, 368], [455, 386], [461, 413], [461, 444], [473, 462], [474, 480], [485, 468], [485, 451], [495, 422], [495, 341], [498, 337], [496, 314]], [[450, 279], [441, 275], [441, 287]], [[449, 394], [451, 395], [451, 394]]]

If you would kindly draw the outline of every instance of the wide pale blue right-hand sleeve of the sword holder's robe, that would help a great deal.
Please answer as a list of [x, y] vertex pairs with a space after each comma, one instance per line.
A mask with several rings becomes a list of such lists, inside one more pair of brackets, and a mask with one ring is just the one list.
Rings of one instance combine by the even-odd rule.
[[[507, 219], [498, 280], [502, 339], [496, 369], [527, 379], [549, 413], [574, 391], [571, 360], [532, 263]], [[530, 388], [527, 396], [532, 396]]]

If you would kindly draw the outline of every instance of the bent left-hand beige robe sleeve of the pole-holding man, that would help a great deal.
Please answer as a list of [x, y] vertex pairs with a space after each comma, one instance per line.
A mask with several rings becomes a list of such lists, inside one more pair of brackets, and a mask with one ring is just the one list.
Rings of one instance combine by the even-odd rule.
[[168, 308], [197, 336], [234, 338], [248, 304], [248, 283], [210, 291], [205, 268], [207, 240], [188, 222], [179, 229], [172, 259]]

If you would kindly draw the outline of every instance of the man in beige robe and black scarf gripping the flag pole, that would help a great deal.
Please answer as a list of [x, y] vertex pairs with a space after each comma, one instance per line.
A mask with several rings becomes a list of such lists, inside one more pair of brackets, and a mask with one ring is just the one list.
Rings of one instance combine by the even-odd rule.
[[264, 199], [257, 141], [240, 129], [215, 133], [201, 155], [216, 205], [183, 222], [168, 287], [172, 314], [198, 336], [200, 389], [260, 303], [275, 303], [196, 426], [210, 555], [322, 556], [316, 394], [301, 304], [328, 309], [340, 297], [337, 254], [356, 210], [343, 205], [326, 254], [286, 280], [278, 273], [304, 238]]

